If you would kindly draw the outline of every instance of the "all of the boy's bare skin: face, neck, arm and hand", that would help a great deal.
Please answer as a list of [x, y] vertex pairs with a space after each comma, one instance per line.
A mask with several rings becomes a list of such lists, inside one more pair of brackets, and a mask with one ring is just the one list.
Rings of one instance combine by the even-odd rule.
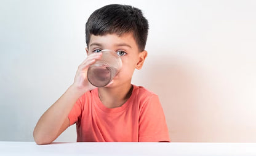
[[122, 60], [118, 75], [106, 87], [98, 88], [98, 96], [107, 108], [122, 106], [132, 91], [132, 75], [135, 69], [141, 69], [147, 56], [146, 51], [139, 51], [132, 33], [90, 35], [86, 48], [88, 57], [79, 65], [74, 83], [67, 91], [41, 116], [34, 128], [34, 140], [37, 144], [52, 143], [67, 127], [70, 126], [68, 114], [74, 103], [87, 91], [95, 89], [87, 80], [87, 69], [100, 59], [100, 50], [116, 51]]

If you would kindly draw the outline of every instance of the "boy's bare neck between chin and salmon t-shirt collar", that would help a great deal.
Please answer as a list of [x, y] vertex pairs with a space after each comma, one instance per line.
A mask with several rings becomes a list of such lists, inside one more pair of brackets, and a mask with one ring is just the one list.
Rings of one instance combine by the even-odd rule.
[[98, 88], [98, 97], [107, 108], [122, 106], [132, 94], [132, 84]]

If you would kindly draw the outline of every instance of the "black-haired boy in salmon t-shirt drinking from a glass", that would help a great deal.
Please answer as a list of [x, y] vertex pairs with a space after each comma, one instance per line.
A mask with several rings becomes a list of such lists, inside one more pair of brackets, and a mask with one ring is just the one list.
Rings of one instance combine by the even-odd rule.
[[[131, 84], [135, 69], [141, 69], [148, 21], [141, 10], [112, 4], [95, 10], [86, 23], [88, 57], [79, 65], [74, 83], [42, 115], [34, 128], [37, 144], [52, 143], [76, 123], [77, 141], [167, 141], [164, 112], [156, 94]], [[87, 69], [102, 56], [116, 51], [122, 67], [105, 87], [87, 80]]]

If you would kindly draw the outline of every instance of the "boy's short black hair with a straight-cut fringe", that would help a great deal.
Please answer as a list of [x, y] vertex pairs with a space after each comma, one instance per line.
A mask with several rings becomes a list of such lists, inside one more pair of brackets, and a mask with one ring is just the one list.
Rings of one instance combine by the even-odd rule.
[[148, 37], [148, 20], [142, 10], [136, 7], [110, 4], [95, 10], [86, 22], [86, 44], [89, 45], [90, 35], [118, 34], [132, 32], [138, 50], [145, 50]]

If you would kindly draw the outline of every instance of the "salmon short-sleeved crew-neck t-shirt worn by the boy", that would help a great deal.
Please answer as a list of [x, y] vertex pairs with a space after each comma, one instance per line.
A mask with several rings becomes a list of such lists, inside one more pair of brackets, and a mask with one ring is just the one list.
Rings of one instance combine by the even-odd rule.
[[107, 108], [98, 89], [86, 92], [68, 114], [76, 123], [78, 142], [170, 141], [158, 95], [133, 85], [132, 95], [122, 106]]

